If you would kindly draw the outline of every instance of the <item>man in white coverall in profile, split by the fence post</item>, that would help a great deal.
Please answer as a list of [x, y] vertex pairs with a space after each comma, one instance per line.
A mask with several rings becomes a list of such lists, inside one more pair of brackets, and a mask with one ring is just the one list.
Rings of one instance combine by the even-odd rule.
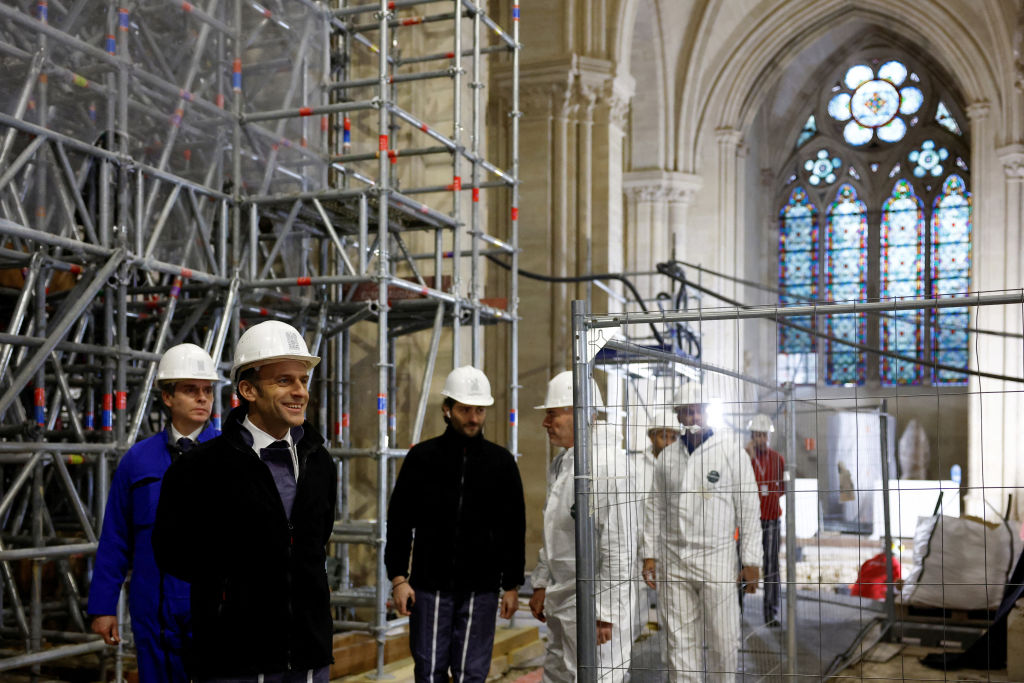
[[[600, 407], [600, 393], [591, 386], [595, 404]], [[544, 404], [537, 408], [545, 412], [544, 428], [551, 444], [564, 450], [548, 470], [544, 545], [530, 577], [529, 609], [548, 625], [544, 682], [570, 683], [577, 680], [572, 373], [555, 376], [548, 383]], [[633, 644], [630, 568], [636, 558], [636, 537], [629, 524], [626, 454], [614, 433], [607, 428], [593, 430], [596, 437], [590, 461], [595, 493], [591, 512], [597, 535], [597, 666], [602, 681], [618, 683], [629, 672]]]

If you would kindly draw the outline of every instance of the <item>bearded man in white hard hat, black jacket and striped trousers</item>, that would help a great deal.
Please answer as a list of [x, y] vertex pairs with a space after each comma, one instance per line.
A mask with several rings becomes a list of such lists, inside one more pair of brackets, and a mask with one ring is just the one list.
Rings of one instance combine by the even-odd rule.
[[406, 456], [388, 505], [384, 562], [392, 603], [410, 615], [416, 680], [447, 681], [451, 673], [483, 683], [495, 614], [510, 618], [518, 607], [526, 507], [515, 458], [483, 438], [495, 402], [486, 376], [456, 368], [441, 395], [447, 427]]

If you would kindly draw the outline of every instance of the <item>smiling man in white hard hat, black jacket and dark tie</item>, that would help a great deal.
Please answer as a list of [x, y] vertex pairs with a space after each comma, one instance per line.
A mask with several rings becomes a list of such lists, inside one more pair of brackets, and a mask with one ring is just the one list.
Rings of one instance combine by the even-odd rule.
[[167, 471], [154, 550], [191, 584], [196, 681], [329, 680], [337, 470], [305, 420], [317, 362], [290, 325], [246, 330], [231, 367], [241, 404]]

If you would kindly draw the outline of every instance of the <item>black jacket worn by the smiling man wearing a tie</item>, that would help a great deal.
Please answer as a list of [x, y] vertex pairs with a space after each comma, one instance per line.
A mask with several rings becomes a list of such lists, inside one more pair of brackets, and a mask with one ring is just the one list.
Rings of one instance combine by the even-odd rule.
[[164, 475], [153, 547], [157, 564], [191, 584], [193, 678], [317, 669], [332, 661], [326, 545], [337, 472], [308, 422], [297, 444], [292, 516], [270, 470], [244, 440], [246, 409], [221, 436]]

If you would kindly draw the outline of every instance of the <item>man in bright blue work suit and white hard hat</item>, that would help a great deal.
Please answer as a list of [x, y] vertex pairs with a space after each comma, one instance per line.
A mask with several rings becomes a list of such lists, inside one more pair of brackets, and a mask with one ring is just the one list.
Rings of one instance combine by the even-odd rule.
[[195, 344], [179, 344], [164, 353], [157, 383], [168, 425], [128, 450], [106, 499], [89, 588], [92, 630], [108, 645], [121, 641], [118, 598], [131, 571], [128, 607], [142, 683], [187, 680], [181, 651], [189, 637], [188, 584], [157, 567], [151, 535], [171, 462], [220, 433], [208, 424], [218, 379], [213, 359]]

